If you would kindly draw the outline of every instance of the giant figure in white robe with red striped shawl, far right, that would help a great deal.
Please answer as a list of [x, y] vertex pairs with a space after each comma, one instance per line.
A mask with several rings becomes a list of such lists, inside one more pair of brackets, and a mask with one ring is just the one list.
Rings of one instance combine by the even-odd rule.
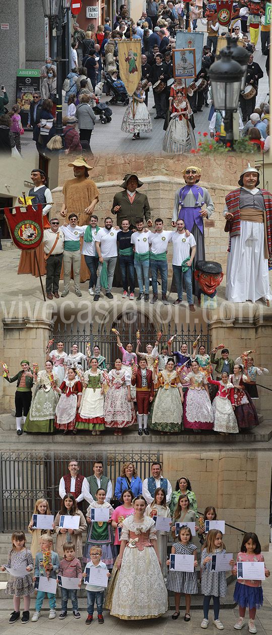
[[250, 164], [226, 196], [224, 217], [230, 243], [226, 269], [226, 298], [230, 302], [256, 302], [269, 306], [268, 261], [272, 254], [272, 194], [258, 188], [259, 172]]

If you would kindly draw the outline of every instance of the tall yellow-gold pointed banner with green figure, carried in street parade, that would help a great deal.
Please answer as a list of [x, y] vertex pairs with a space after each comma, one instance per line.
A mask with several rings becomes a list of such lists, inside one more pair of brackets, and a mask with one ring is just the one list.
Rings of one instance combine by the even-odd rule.
[[141, 79], [141, 39], [118, 43], [119, 73], [130, 96]]

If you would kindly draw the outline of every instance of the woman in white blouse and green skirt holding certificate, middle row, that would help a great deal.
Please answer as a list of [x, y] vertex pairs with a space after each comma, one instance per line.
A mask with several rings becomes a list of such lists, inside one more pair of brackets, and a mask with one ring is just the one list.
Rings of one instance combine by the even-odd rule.
[[[110, 503], [105, 501], [106, 492], [100, 488], [96, 493], [96, 500], [87, 508], [86, 519], [89, 525], [87, 532], [86, 545], [84, 547], [82, 561], [86, 564], [91, 561], [89, 552], [91, 547], [97, 547], [98, 545], [102, 549], [102, 562], [107, 565], [108, 570], [112, 570], [117, 556], [117, 549], [113, 545], [113, 533], [111, 518], [113, 507]], [[91, 521], [91, 509], [109, 509], [110, 519], [108, 521]]]

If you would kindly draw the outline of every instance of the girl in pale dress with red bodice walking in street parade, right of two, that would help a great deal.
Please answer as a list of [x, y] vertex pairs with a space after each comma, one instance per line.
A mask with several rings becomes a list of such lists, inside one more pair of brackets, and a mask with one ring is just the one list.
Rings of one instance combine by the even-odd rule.
[[182, 154], [197, 149], [189, 115], [191, 115], [191, 106], [188, 99], [183, 91], [177, 91], [176, 99], [172, 102], [171, 121], [162, 143], [164, 152]]

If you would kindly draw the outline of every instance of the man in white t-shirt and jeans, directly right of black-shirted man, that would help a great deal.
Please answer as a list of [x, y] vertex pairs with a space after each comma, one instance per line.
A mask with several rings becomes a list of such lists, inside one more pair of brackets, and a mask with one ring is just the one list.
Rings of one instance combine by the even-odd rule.
[[[131, 236], [131, 244], [134, 250], [134, 268], [139, 283], [139, 295], [136, 300], [141, 300], [145, 295], [145, 302], [149, 302], [149, 243], [148, 237], [152, 232], [143, 229], [143, 220], [137, 218], [136, 229]], [[143, 279], [145, 280], [145, 294], [143, 293]]]

